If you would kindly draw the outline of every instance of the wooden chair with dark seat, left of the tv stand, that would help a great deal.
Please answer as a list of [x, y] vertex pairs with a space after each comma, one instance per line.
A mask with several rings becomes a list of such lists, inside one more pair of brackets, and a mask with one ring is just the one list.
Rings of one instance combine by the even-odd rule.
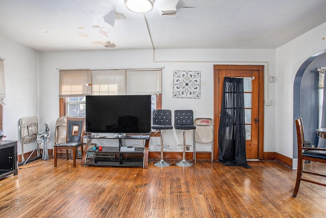
[[[80, 150], [84, 152], [83, 148], [83, 132], [85, 126], [85, 118], [67, 118], [67, 129], [66, 129], [66, 141], [55, 144], [54, 147], [54, 158], [55, 158], [55, 167], [57, 166], [57, 153], [58, 149], [69, 149], [72, 150], [72, 160], [73, 160], [73, 167], [76, 167], [76, 152], [77, 148], [81, 147]], [[67, 160], [68, 152], [67, 152]]]

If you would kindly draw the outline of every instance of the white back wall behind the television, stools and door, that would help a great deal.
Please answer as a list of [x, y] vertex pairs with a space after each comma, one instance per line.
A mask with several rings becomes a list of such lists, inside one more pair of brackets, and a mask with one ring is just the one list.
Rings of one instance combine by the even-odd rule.
[[[265, 66], [265, 80], [276, 76], [275, 50], [120, 50], [120, 51], [73, 51], [40, 53], [40, 124], [48, 123], [54, 131], [59, 116], [59, 70], [73, 68], [110, 69], [110, 68], [156, 68], [162, 70], [162, 108], [191, 109], [196, 117], [213, 117], [213, 65], [214, 64], [259, 64]], [[268, 69], [268, 70], [266, 70]], [[172, 97], [173, 70], [201, 71], [201, 98], [175, 99]], [[269, 87], [269, 99], [276, 102], [276, 83]], [[266, 96], [265, 96], [266, 97]], [[265, 106], [265, 144], [264, 151], [275, 151], [275, 108]], [[48, 147], [53, 146], [51, 133]], [[187, 134], [192, 142], [192, 134]], [[165, 143], [169, 149], [177, 147], [182, 134], [175, 129], [166, 131]], [[152, 138], [150, 150], [158, 151], [154, 144], [158, 138]], [[191, 143], [192, 144], [192, 143]], [[192, 148], [191, 148], [192, 150]]]

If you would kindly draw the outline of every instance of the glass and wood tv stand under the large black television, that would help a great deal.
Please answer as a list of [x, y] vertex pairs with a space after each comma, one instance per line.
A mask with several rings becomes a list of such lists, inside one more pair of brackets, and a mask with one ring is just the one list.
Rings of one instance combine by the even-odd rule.
[[[122, 135], [115, 136], [85, 136], [87, 144], [82, 157], [82, 166], [142, 166], [148, 167], [149, 135]], [[93, 139], [117, 139], [118, 146], [103, 146], [102, 151], [93, 151], [91, 143]], [[145, 147], [122, 147], [122, 140], [142, 139]], [[122, 147], [122, 149], [121, 149]], [[91, 156], [88, 157], [88, 156]]]

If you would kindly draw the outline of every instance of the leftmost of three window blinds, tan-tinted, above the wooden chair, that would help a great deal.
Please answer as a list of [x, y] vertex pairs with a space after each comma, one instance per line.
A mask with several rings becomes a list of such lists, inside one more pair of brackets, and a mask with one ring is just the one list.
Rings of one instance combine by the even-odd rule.
[[90, 69], [59, 70], [59, 98], [92, 94]]

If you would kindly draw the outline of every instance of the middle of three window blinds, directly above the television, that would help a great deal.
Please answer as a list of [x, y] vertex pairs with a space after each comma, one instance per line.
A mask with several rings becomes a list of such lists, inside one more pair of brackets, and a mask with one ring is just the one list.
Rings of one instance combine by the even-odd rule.
[[92, 70], [93, 95], [126, 94], [126, 70]]

